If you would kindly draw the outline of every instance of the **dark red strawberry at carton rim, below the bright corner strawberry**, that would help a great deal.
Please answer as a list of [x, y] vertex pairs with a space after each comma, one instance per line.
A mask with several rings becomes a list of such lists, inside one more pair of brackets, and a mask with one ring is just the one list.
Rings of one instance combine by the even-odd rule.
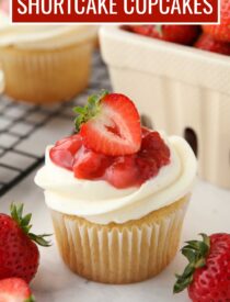
[[203, 51], [230, 56], [230, 43], [216, 41], [208, 34], [202, 34], [194, 46]]

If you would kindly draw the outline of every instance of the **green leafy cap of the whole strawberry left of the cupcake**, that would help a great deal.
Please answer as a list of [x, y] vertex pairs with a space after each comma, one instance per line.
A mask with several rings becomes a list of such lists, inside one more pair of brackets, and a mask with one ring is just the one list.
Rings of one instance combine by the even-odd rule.
[[50, 242], [46, 241], [45, 237], [51, 236], [51, 234], [43, 234], [43, 235], [35, 235], [33, 233], [30, 233], [32, 228], [31, 219], [32, 214], [26, 214], [23, 216], [23, 208], [24, 205], [21, 204], [14, 204], [12, 203], [10, 206], [11, 217], [19, 224], [19, 226], [23, 230], [23, 232], [36, 244], [41, 246], [50, 246]]

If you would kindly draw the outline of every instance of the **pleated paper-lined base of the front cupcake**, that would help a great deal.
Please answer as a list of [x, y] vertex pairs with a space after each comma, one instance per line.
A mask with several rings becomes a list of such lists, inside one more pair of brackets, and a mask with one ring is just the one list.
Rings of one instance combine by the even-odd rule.
[[56, 238], [67, 266], [103, 283], [131, 283], [162, 271], [180, 243], [188, 197], [125, 224], [99, 225], [51, 210]]

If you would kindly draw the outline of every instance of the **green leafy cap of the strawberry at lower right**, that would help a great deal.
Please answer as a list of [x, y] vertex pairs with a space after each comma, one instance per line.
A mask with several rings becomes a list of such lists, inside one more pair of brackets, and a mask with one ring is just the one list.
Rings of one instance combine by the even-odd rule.
[[183, 291], [193, 282], [193, 273], [197, 268], [206, 266], [206, 257], [210, 249], [210, 239], [206, 234], [199, 234], [203, 241], [186, 242], [182, 248], [182, 254], [187, 258], [188, 265], [185, 267], [182, 275], [175, 275], [176, 282], [173, 292]]

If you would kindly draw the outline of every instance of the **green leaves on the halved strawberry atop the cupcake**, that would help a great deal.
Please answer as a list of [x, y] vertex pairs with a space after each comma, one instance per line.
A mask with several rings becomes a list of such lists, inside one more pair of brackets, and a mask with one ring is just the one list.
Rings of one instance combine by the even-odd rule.
[[100, 103], [107, 94], [107, 90], [102, 90], [97, 94], [90, 96], [88, 99], [88, 103], [84, 107], [73, 108], [73, 112], [78, 114], [74, 120], [77, 132], [80, 131], [82, 124], [93, 119], [100, 112]]

